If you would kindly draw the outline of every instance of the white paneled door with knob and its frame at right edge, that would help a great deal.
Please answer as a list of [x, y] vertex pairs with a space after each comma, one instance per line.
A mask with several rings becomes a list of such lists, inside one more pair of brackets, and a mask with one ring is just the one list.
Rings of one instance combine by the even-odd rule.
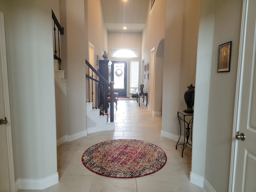
[[[244, 0], [236, 102], [233, 189], [256, 191], [256, 1]], [[234, 135], [234, 137], [235, 137]], [[236, 151], [235, 151], [236, 153]]]

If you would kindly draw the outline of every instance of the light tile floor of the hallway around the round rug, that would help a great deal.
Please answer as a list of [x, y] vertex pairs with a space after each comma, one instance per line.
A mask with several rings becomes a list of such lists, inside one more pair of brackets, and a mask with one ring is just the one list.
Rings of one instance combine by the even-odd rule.
[[[19, 190], [18, 192], [205, 192], [189, 182], [191, 148], [175, 149], [176, 142], [160, 136], [161, 116], [152, 116], [145, 103], [136, 100], [119, 100], [114, 112], [114, 131], [88, 134], [57, 148], [58, 184], [44, 190]], [[156, 144], [167, 155], [165, 166], [154, 174], [139, 178], [109, 178], [94, 174], [81, 161], [83, 152], [90, 146], [111, 139], [132, 138]]]

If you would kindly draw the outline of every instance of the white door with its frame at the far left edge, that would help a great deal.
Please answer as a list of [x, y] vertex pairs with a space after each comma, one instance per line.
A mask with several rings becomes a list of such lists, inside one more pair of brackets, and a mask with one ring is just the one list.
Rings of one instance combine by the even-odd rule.
[[[0, 12], [0, 119], [10, 119], [4, 14]], [[0, 191], [15, 191], [10, 122], [0, 125]]]

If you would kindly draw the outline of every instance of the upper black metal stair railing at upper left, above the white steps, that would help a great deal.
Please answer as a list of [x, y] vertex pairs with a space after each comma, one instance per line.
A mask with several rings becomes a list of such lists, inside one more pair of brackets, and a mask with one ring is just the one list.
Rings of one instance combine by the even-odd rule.
[[[53, 10], [52, 10], [52, 20], [54, 22], [54, 59], [58, 60], [59, 61], [59, 70], [60, 69], [60, 63], [61, 63], [61, 58], [60, 58], [60, 35], [63, 35], [64, 34], [64, 28], [62, 26], [60, 26], [60, 23], [58, 22], [58, 19], [56, 18]], [[58, 39], [57, 39], [57, 35], [56, 35], [56, 27], [58, 29], [57, 31], [57, 35], [58, 35]], [[58, 42], [56, 42], [58, 41]], [[57, 56], [57, 53], [58, 53], [58, 56]]]

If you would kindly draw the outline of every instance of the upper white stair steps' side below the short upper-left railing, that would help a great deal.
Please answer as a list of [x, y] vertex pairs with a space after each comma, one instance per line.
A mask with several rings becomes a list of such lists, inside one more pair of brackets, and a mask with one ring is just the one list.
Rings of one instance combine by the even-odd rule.
[[66, 82], [67, 80], [64, 77], [64, 70], [58, 70], [58, 60], [54, 59], [54, 79], [60, 90], [67, 95], [66, 93]]

